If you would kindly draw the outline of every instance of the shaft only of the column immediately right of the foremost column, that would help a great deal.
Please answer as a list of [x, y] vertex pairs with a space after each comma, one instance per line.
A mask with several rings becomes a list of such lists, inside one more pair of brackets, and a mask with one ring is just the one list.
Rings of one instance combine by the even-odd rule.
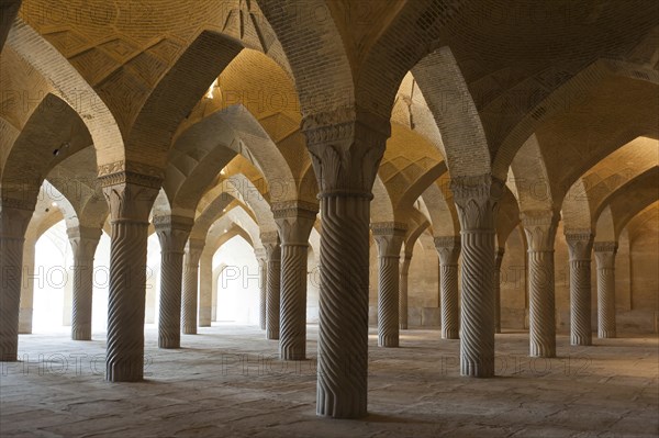
[[399, 346], [399, 258], [380, 257], [378, 346]]

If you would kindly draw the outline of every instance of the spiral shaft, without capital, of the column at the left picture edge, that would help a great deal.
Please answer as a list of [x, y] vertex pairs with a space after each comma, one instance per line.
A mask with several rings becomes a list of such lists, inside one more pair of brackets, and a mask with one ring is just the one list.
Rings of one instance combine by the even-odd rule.
[[0, 361], [15, 361], [19, 350], [21, 263], [24, 239], [0, 237]]

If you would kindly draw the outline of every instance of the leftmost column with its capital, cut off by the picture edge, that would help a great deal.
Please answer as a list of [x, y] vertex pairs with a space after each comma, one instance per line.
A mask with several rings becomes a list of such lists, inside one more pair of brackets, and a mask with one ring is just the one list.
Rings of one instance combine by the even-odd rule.
[[0, 206], [0, 361], [18, 359], [23, 243], [33, 212], [22, 201], [3, 199]]

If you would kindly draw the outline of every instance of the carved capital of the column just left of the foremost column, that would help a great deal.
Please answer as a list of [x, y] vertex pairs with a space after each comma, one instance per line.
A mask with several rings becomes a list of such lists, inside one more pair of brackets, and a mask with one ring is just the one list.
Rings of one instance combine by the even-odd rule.
[[308, 246], [309, 235], [316, 220], [319, 207], [303, 201], [272, 204], [272, 214], [279, 228], [281, 245]]

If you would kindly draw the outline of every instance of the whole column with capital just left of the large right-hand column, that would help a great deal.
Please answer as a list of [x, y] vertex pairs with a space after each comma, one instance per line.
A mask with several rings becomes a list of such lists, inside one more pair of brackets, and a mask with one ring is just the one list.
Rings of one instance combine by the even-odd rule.
[[439, 256], [439, 307], [442, 308], [442, 338], [460, 338], [460, 306], [458, 294], [458, 258], [460, 237], [435, 237]]

